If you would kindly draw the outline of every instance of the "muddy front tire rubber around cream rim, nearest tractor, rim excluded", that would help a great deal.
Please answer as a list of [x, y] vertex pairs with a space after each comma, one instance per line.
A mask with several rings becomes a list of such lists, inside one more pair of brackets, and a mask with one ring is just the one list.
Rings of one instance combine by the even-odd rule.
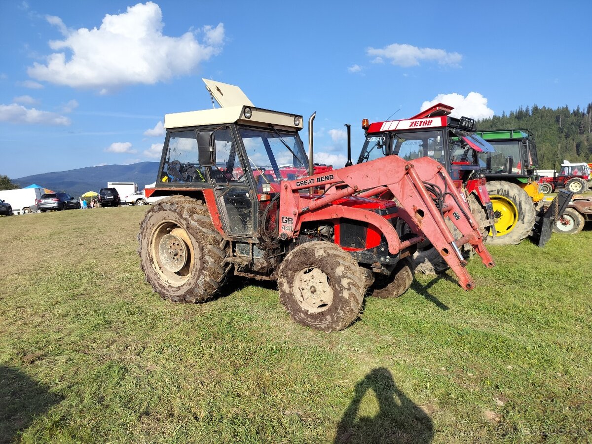
[[[333, 301], [320, 313], [305, 310], [294, 297], [294, 277], [307, 267], [321, 269], [332, 282]], [[282, 261], [278, 276], [279, 301], [299, 324], [335, 332], [358, 318], [366, 291], [364, 275], [352, 256], [336, 244], [314, 241], [297, 246]]]

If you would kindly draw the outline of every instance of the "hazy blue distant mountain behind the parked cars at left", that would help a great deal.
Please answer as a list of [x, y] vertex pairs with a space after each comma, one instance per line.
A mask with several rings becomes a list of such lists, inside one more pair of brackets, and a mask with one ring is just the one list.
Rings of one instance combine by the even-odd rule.
[[22, 188], [37, 184], [55, 192], [67, 192], [78, 198], [87, 191], [98, 192], [107, 186], [107, 182], [136, 182], [138, 189], [144, 189], [144, 185], [156, 181], [158, 165], [158, 162], [139, 162], [131, 165], [87, 166], [11, 180]]

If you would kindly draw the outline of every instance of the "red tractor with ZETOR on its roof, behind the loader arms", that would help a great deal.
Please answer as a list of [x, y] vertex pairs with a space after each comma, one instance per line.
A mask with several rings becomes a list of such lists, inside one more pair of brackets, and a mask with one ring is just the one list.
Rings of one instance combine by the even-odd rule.
[[[493, 205], [490, 201], [485, 176], [479, 172], [482, 166], [477, 153], [493, 152], [487, 141], [471, 134], [475, 121], [468, 117], [450, 117], [452, 107], [437, 104], [409, 119], [369, 123], [362, 128], [366, 141], [358, 163], [396, 155], [407, 161], [430, 157], [441, 163], [452, 178], [456, 191], [477, 220], [484, 240], [495, 235]], [[448, 191], [448, 190], [446, 190]], [[381, 198], [393, 198], [383, 194]], [[451, 220], [447, 220], [453, 231]], [[459, 233], [455, 231], [455, 235]], [[448, 268], [437, 249], [426, 240], [419, 244], [414, 255], [417, 271], [433, 274]]]

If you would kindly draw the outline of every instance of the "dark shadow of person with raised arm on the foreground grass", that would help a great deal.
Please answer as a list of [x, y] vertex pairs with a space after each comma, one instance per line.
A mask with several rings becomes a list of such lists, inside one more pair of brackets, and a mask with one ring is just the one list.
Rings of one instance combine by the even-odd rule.
[[[358, 416], [368, 390], [374, 391], [378, 413]], [[352, 402], [337, 427], [334, 444], [429, 443], [434, 436], [432, 419], [395, 384], [386, 368], [375, 368], [356, 384]]]

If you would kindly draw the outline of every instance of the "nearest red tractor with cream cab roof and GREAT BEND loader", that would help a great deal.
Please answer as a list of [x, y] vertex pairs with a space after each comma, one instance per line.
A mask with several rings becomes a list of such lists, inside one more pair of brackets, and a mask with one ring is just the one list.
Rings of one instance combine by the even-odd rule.
[[[205, 82], [222, 108], [166, 115], [159, 180], [146, 192], [173, 195], [147, 211], [138, 234], [141, 267], [162, 297], [202, 302], [232, 276], [277, 280], [295, 321], [331, 332], [358, 318], [366, 292], [403, 294], [426, 239], [463, 289], [475, 287], [465, 243], [494, 266], [435, 160], [389, 156], [310, 175], [300, 115], [256, 108], [236, 86]], [[371, 197], [382, 192], [397, 202]]]

